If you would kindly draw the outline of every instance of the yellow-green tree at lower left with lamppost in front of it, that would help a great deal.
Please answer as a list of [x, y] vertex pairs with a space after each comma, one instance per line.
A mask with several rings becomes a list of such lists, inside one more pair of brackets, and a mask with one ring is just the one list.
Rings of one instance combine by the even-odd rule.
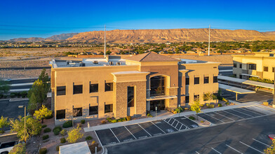
[[11, 120], [11, 132], [17, 132], [20, 141], [27, 141], [30, 137], [39, 134], [41, 132], [42, 125], [39, 120], [32, 118], [31, 116], [26, 117], [26, 135], [24, 118], [21, 116], [16, 120]]

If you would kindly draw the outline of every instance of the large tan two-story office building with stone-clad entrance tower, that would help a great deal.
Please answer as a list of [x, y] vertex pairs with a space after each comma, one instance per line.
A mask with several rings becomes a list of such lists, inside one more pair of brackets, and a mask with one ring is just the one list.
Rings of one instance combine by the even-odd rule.
[[147, 111], [188, 106], [217, 92], [218, 65], [154, 52], [119, 59], [50, 62], [55, 124], [65, 120], [145, 116]]

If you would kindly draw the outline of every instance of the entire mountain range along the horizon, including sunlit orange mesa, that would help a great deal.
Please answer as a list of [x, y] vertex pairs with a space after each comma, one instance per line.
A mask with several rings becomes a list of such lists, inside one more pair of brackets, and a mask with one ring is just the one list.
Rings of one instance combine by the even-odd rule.
[[[135, 29], [106, 31], [109, 43], [166, 43], [208, 41], [208, 29]], [[14, 38], [10, 41], [76, 41], [103, 43], [104, 31], [87, 31], [48, 38]], [[275, 31], [210, 29], [210, 41], [275, 41]]]

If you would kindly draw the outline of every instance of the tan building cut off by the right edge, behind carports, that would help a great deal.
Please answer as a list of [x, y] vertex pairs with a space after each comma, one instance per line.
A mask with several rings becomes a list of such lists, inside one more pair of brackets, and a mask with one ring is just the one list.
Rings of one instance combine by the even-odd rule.
[[275, 57], [271, 52], [259, 52], [255, 55], [232, 55], [233, 73], [236, 78], [250, 77], [274, 80]]

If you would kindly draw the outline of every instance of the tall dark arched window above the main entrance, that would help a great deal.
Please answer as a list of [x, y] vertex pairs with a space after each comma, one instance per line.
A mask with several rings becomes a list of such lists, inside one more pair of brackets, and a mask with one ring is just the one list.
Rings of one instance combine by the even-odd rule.
[[150, 78], [150, 88], [150, 96], [165, 95], [166, 78], [164, 76]]

